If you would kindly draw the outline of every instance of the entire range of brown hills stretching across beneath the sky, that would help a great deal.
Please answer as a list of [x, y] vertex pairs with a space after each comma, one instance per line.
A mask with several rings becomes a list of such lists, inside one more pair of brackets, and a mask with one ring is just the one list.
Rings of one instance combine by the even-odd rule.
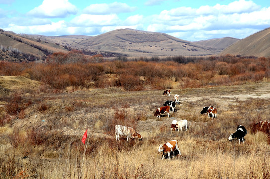
[[[0, 29], [0, 60], [45, 60], [54, 52], [72, 49], [86, 55], [116, 56], [270, 56], [270, 28], [245, 39], [232, 37], [190, 42], [160, 32], [117, 29], [97, 36], [15, 34]], [[223, 50], [226, 48], [225, 50]]]

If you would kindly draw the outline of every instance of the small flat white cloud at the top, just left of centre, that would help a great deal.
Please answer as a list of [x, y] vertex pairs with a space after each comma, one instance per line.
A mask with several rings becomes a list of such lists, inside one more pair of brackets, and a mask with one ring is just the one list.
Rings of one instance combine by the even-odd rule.
[[106, 3], [92, 4], [86, 7], [83, 10], [83, 13], [104, 15], [104, 14], [112, 14], [112, 13], [118, 14], [118, 13], [133, 12], [135, 10], [136, 10], [136, 7], [130, 7], [126, 3], [113, 2], [109, 4], [106, 4]]

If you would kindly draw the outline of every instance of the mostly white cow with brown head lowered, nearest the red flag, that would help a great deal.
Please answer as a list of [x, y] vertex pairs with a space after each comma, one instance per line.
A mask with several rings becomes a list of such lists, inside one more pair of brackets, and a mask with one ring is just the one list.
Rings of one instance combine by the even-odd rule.
[[137, 133], [132, 127], [116, 125], [115, 126], [115, 138], [119, 141], [120, 138], [126, 137], [127, 142], [130, 139], [139, 138], [142, 139], [140, 133]]

